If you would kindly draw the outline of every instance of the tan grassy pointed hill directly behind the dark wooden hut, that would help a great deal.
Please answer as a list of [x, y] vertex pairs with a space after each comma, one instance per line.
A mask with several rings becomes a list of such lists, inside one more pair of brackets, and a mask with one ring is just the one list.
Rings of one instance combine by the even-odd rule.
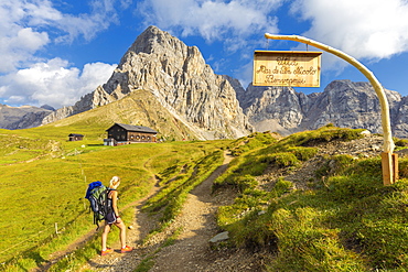
[[[158, 138], [163, 140], [197, 140], [194, 137], [195, 132], [190, 127], [175, 118], [172, 112], [162, 108], [153, 94], [143, 89], [135, 90], [122, 99], [104, 107], [97, 107], [46, 126], [58, 127], [60, 129], [66, 127], [67, 133], [72, 132], [72, 128], [75, 128], [76, 132], [85, 133], [87, 137], [94, 133], [89, 133], [89, 131], [99, 131], [97, 135], [94, 134], [93, 137], [98, 137], [101, 140], [106, 138], [106, 129], [119, 120], [122, 123], [154, 128], [159, 131]], [[92, 129], [88, 127], [92, 127]]]

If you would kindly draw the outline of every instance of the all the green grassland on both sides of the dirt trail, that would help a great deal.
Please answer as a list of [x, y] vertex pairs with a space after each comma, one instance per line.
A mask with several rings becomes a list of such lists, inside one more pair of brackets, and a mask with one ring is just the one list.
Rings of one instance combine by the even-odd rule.
[[[235, 159], [213, 186], [236, 192], [234, 203], [217, 213], [218, 227], [230, 236], [221, 248], [268, 252], [267, 271], [408, 270], [408, 159], [399, 159], [400, 179], [384, 186], [379, 156], [319, 155], [321, 143], [361, 139], [362, 130], [326, 126], [281, 140], [266, 132], [114, 148], [103, 145], [107, 127], [95, 113], [0, 130], [0, 269], [29, 271], [94, 230], [84, 199], [87, 184], [107, 184], [112, 175], [122, 178], [119, 207], [130, 207], [160, 185], [143, 210], [160, 215], [151, 235], [162, 231], [229, 150]], [[72, 132], [86, 140], [68, 142]], [[406, 140], [396, 142], [398, 149], [407, 146]], [[311, 160], [321, 160], [311, 177], [286, 179]], [[268, 177], [273, 171], [280, 177]], [[125, 220], [133, 216], [131, 208], [122, 210]], [[75, 271], [99, 252], [99, 242], [95, 236], [50, 271]], [[154, 255], [146, 257], [136, 271], [148, 271], [152, 262]]]

